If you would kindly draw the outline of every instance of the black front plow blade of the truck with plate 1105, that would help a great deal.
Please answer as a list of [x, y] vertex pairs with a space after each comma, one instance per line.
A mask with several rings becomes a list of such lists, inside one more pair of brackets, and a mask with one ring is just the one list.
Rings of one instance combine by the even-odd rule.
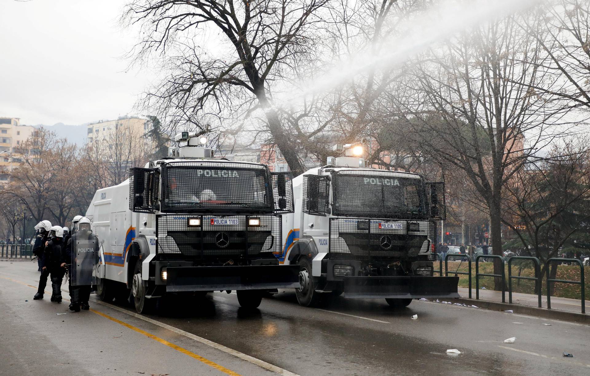
[[460, 298], [458, 277], [346, 277], [344, 298]]

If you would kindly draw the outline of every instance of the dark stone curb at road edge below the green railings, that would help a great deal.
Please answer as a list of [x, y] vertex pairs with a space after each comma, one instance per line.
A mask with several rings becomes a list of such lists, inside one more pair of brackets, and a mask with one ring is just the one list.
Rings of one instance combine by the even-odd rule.
[[450, 301], [453, 301], [454, 303], [476, 305], [479, 308], [492, 309], [494, 311], [507, 311], [509, 309], [512, 309], [512, 311], [514, 311], [515, 314], [578, 322], [579, 324], [590, 324], [590, 315], [582, 313], [578, 314], [576, 312], [560, 311], [558, 309], [538, 308], [527, 305], [490, 302], [481, 299], [468, 298], [453, 298], [450, 299]]

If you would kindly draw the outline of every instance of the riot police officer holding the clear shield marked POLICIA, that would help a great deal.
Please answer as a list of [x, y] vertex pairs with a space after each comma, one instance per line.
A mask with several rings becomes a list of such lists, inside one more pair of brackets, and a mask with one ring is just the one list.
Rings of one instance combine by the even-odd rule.
[[[81, 246], [83, 245], [83, 246]], [[81, 247], [80, 249], [78, 249]], [[98, 255], [99, 242], [96, 235], [90, 229], [90, 219], [82, 217], [78, 222], [78, 229], [68, 240], [65, 247], [63, 263], [70, 263], [70, 310], [80, 312], [81, 309], [90, 309], [90, 288], [92, 285], [92, 271], [96, 260], [93, 255]]]

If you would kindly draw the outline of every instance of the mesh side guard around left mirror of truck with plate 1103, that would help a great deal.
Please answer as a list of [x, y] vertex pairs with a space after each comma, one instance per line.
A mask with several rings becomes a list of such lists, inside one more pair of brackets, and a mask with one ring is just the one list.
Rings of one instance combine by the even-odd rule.
[[141, 167], [129, 169], [129, 210], [136, 213], [153, 213], [158, 190], [158, 170]]

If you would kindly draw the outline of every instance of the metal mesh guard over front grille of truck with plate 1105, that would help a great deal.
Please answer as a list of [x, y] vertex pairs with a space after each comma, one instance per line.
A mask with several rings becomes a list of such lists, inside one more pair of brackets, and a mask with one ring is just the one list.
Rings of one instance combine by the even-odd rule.
[[330, 218], [329, 252], [339, 258], [427, 258], [435, 260], [435, 222]]

